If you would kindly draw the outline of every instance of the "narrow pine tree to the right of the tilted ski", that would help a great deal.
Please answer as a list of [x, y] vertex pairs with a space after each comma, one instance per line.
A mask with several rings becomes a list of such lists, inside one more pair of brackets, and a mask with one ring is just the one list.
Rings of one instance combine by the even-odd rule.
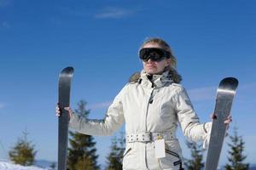
[[245, 142], [242, 137], [237, 133], [237, 127], [234, 127], [234, 134], [230, 136], [231, 143], [228, 144], [230, 146], [229, 150], [229, 163], [225, 165], [226, 170], [247, 170], [249, 169], [249, 164], [244, 163], [247, 156], [243, 155], [243, 151], [245, 149]]

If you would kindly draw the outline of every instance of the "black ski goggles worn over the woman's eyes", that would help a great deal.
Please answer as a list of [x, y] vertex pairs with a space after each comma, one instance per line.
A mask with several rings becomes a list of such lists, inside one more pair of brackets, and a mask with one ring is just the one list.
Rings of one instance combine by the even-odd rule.
[[170, 58], [171, 53], [162, 48], [142, 48], [139, 51], [139, 56], [143, 61], [148, 61], [148, 59], [151, 59], [152, 61], [161, 61]]

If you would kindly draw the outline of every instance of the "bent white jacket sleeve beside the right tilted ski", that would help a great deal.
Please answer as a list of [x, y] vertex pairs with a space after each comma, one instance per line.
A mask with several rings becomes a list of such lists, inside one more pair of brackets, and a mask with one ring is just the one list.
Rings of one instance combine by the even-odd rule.
[[173, 100], [174, 108], [177, 111], [177, 120], [183, 134], [192, 141], [203, 141], [203, 145], [206, 147], [209, 142], [212, 122], [199, 122], [199, 117], [183, 87], [177, 89]]

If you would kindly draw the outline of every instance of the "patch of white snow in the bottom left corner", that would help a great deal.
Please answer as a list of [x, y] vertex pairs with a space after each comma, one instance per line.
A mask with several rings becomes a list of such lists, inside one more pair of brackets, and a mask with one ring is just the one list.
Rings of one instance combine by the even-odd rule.
[[49, 169], [36, 167], [36, 166], [24, 167], [21, 165], [16, 165], [10, 161], [0, 160], [0, 170], [49, 170]]

